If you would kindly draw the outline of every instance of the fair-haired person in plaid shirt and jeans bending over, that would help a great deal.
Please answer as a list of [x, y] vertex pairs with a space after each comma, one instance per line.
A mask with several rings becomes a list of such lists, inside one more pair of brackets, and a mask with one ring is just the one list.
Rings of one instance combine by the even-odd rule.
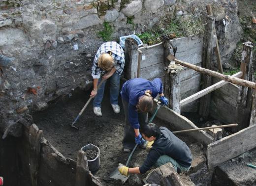
[[[110, 41], [103, 43], [94, 58], [92, 66], [92, 76], [94, 79], [94, 89], [90, 97], [94, 97], [94, 113], [96, 116], [102, 116], [101, 101], [104, 94], [104, 81], [98, 88], [99, 82], [109, 79], [110, 81], [110, 103], [115, 113], [120, 112], [118, 105], [120, 77], [125, 67], [125, 53], [123, 48], [116, 42]], [[101, 74], [105, 75], [100, 77]]]

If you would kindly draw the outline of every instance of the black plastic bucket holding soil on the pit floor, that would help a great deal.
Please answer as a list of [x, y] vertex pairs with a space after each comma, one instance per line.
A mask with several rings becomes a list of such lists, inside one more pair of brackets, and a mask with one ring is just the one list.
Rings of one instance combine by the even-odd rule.
[[92, 149], [92, 150], [96, 150], [97, 151], [97, 156], [95, 159], [92, 159], [92, 160], [87, 160], [88, 162], [88, 167], [89, 167], [89, 170], [91, 172], [96, 172], [98, 169], [99, 169], [99, 166], [100, 166], [100, 160], [99, 160], [99, 148], [93, 144], [88, 144], [84, 147], [81, 148], [82, 151], [86, 151], [86, 150], [89, 150], [89, 149]]

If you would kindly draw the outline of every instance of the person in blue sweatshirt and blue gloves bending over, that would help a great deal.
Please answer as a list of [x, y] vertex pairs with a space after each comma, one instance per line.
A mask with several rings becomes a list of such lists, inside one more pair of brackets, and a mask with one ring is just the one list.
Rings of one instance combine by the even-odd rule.
[[146, 141], [142, 138], [139, 129], [147, 123], [148, 112], [152, 110], [154, 105], [153, 99], [158, 94], [160, 95], [161, 102], [167, 105], [168, 100], [163, 96], [162, 82], [159, 78], [152, 81], [135, 78], [124, 83], [121, 96], [126, 115], [123, 139], [125, 152], [132, 150], [136, 143], [140, 147], [145, 148]]

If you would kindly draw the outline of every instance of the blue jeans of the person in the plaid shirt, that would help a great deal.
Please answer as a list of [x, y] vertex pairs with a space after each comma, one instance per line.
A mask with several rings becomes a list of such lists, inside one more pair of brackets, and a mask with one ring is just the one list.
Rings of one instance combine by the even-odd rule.
[[[120, 75], [116, 72], [107, 79], [110, 82], [110, 103], [113, 105], [118, 104], [118, 96], [119, 96], [119, 86], [120, 86]], [[98, 84], [101, 81], [101, 78], [98, 80]], [[104, 95], [106, 81], [104, 81], [101, 86], [98, 88], [97, 94], [94, 98], [94, 107], [100, 107], [101, 101]]]

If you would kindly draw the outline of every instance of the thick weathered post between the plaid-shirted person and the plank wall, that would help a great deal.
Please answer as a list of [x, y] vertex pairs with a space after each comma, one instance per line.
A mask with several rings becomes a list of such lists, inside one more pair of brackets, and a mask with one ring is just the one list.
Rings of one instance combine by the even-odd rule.
[[139, 53], [137, 51], [138, 44], [133, 39], [126, 39], [125, 42], [125, 58], [126, 58], [126, 66], [125, 66], [125, 78], [127, 80], [132, 78], [137, 78], [138, 72], [138, 57]]

